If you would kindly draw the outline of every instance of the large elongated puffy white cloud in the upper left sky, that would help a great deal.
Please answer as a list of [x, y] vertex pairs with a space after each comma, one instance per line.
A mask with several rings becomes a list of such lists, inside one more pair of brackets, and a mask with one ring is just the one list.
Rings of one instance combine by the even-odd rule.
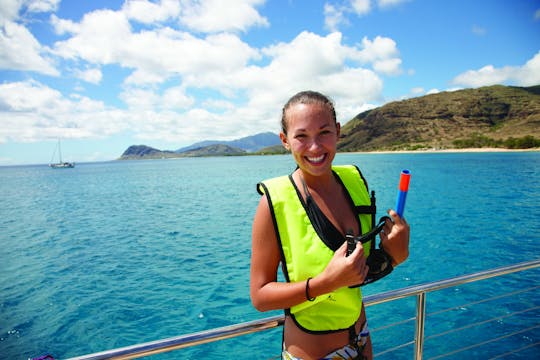
[[198, 38], [169, 27], [133, 32], [122, 12], [100, 10], [86, 14], [78, 24], [60, 19], [54, 23], [58, 31], [73, 34], [55, 44], [58, 56], [133, 69], [126, 79], [129, 84], [159, 83], [202, 72], [222, 74], [259, 56], [234, 34]]

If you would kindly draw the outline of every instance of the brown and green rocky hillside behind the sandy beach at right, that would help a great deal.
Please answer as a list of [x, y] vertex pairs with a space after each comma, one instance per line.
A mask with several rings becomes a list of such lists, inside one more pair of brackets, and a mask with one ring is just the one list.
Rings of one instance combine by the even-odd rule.
[[339, 151], [485, 146], [540, 146], [540, 85], [495, 85], [391, 102], [347, 122], [338, 142]]

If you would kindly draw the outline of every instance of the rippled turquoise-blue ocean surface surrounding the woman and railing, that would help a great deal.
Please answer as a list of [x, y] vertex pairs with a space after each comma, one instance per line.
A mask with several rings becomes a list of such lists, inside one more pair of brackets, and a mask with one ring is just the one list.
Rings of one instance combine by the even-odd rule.
[[[335, 163], [360, 167], [378, 216], [412, 173], [410, 257], [364, 294], [540, 257], [539, 152]], [[0, 167], [0, 358], [64, 359], [281, 314], [249, 299], [251, 222], [256, 183], [294, 167], [288, 155]], [[424, 358], [539, 358], [539, 285], [537, 269], [429, 293]], [[413, 340], [415, 301], [368, 307], [375, 353]], [[152, 359], [277, 359], [280, 346], [274, 329]], [[411, 359], [412, 346], [378, 358]]]

